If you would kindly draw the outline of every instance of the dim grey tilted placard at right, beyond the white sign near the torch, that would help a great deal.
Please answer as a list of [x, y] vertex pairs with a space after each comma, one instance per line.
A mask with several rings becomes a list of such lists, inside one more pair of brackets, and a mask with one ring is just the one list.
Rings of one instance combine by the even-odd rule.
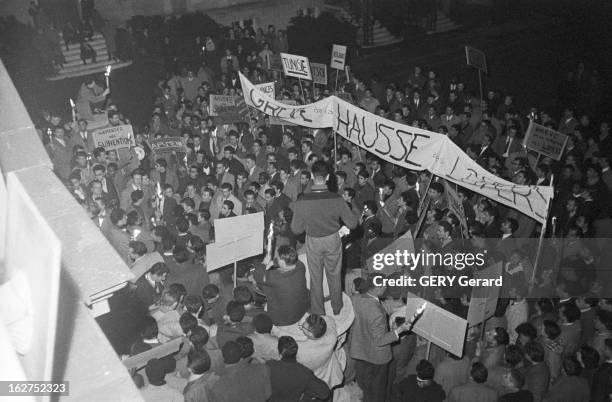
[[[474, 279], [497, 279], [502, 274], [502, 263], [498, 262], [483, 270], [474, 271]], [[468, 325], [473, 327], [493, 317], [501, 288], [497, 286], [474, 286], [468, 310]]]

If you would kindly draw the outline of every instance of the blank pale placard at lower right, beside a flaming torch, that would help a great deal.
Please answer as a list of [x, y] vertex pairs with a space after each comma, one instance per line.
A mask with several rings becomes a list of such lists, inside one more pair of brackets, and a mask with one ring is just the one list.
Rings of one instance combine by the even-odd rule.
[[[408, 292], [406, 318], [411, 318], [417, 308], [421, 307], [425, 302], [425, 299]], [[435, 343], [455, 356], [463, 355], [466, 330], [466, 320], [449, 313], [431, 302], [427, 302], [425, 312], [412, 328], [412, 332]]]

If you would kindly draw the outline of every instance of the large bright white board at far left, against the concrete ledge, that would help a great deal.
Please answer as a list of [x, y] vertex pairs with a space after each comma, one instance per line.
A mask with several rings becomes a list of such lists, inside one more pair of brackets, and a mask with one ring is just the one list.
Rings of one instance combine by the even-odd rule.
[[0, 316], [27, 378], [50, 381], [62, 246], [15, 173], [6, 177], [8, 272], [0, 286]]

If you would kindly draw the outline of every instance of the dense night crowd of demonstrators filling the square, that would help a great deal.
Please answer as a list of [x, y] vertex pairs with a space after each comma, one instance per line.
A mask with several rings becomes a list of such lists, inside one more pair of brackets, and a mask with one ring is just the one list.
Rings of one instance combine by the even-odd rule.
[[[612, 137], [598, 113], [595, 72], [580, 63], [560, 85], [560, 115], [496, 90], [477, 99], [460, 79], [418, 66], [402, 82], [373, 74], [302, 88], [272, 70], [271, 57], [287, 50], [274, 26], [229, 32], [222, 47], [211, 37], [196, 41], [190, 64], [166, 37], [166, 74], [144, 124], [109, 103], [108, 89], [84, 84], [93, 95], [79, 113], [105, 109], [109, 125], [132, 123], [129, 149], [96, 147], [84, 118], [51, 113], [38, 124], [58, 176], [134, 274], [111, 299], [109, 314], [129, 317], [113, 338], [117, 352], [182, 340], [178, 353], [132, 373], [145, 400], [610, 400], [609, 248], [587, 241], [605, 236], [611, 212]], [[457, 216], [443, 181], [330, 130], [276, 124], [253, 110], [247, 120], [216, 124], [209, 95], [240, 99], [239, 71], [256, 84], [273, 81], [278, 99], [298, 104], [339, 93], [447, 135], [518, 185], [553, 185], [544, 234], [555, 240], [535, 265], [543, 230], [535, 220], [461, 187]], [[560, 161], [522, 146], [530, 121], [569, 137]], [[153, 152], [149, 141], [165, 137], [182, 137], [184, 152]], [[215, 222], [259, 212], [271, 238], [265, 252], [236, 272], [207, 272]], [[468, 331], [462, 355], [428, 347], [413, 319], [396, 317], [410, 291], [465, 318], [470, 289], [385, 288], [376, 279], [384, 274], [370, 259], [407, 231], [419, 250], [486, 252], [486, 266], [503, 264], [495, 315]], [[410, 274], [395, 271], [389, 278]], [[444, 265], [416, 272], [457, 275]]]

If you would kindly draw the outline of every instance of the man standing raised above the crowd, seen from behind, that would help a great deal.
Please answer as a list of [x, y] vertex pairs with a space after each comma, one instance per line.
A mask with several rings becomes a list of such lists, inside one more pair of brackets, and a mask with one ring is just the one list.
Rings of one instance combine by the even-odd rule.
[[325, 162], [312, 165], [312, 191], [295, 203], [291, 230], [306, 232], [306, 256], [310, 271], [310, 312], [325, 315], [323, 301], [323, 270], [327, 275], [334, 314], [342, 310], [342, 242], [338, 230], [340, 220], [349, 229], [357, 226], [357, 218], [341, 196], [327, 188], [329, 176]]

